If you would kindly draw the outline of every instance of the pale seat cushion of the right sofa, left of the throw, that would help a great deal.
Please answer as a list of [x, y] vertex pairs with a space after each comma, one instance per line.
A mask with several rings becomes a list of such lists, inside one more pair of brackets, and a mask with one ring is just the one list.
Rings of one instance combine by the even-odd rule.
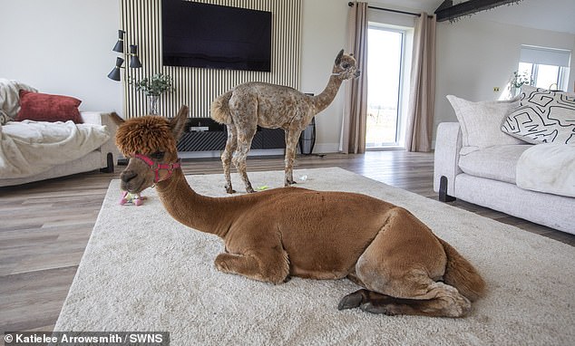
[[531, 144], [502, 145], [475, 150], [459, 158], [459, 167], [471, 176], [515, 184], [515, 167]]

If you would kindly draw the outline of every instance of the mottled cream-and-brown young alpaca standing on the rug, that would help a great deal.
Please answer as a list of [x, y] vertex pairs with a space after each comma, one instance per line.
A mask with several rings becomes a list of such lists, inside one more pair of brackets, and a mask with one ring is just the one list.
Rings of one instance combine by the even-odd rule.
[[231, 91], [220, 95], [211, 104], [211, 118], [228, 127], [226, 149], [221, 163], [226, 178], [226, 191], [231, 187], [229, 164], [232, 161], [239, 171], [246, 191], [254, 192], [246, 172], [251, 140], [258, 125], [267, 129], [281, 128], [286, 131], [285, 185], [294, 184], [293, 165], [296, 157], [297, 140], [312, 118], [334, 101], [342, 82], [359, 76], [356, 59], [340, 51], [326, 89], [317, 96], [309, 96], [286, 86], [263, 82], [239, 84]]

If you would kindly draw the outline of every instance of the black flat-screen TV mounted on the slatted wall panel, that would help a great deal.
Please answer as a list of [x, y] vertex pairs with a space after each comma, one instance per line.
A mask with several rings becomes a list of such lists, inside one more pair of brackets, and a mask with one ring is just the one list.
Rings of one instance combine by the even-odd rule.
[[271, 71], [271, 12], [162, 0], [161, 39], [167, 66]]

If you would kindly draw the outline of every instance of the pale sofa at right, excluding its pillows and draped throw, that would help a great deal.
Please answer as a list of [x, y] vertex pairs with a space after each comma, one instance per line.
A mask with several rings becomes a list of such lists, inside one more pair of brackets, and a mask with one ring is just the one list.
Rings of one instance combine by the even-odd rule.
[[443, 122], [435, 141], [434, 190], [443, 201], [456, 197], [575, 234], [575, 198], [522, 189], [515, 184], [517, 161], [531, 146], [502, 145], [461, 157], [459, 123]]

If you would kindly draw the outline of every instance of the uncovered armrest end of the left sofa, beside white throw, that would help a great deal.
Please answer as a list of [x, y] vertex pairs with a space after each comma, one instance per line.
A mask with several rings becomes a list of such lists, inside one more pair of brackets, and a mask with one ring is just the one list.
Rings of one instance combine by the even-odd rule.
[[118, 125], [112, 120], [110, 113], [102, 111], [82, 111], [80, 113], [82, 120], [86, 124], [96, 124], [105, 126], [109, 133], [110, 139], [106, 140], [100, 147], [100, 168], [113, 172], [113, 166], [118, 162], [120, 150], [116, 147], [116, 130]]

